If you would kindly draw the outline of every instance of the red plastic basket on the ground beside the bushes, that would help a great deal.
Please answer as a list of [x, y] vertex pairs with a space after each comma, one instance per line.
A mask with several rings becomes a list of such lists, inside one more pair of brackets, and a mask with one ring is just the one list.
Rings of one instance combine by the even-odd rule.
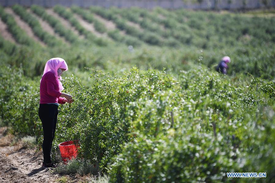
[[76, 158], [77, 156], [77, 148], [79, 148], [79, 141], [66, 141], [58, 144], [61, 158], [64, 163], [68, 161], [69, 159]]

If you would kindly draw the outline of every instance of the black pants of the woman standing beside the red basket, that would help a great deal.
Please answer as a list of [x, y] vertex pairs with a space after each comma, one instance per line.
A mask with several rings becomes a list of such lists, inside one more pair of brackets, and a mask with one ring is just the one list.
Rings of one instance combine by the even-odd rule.
[[50, 152], [54, 140], [54, 133], [57, 123], [58, 105], [56, 104], [40, 104], [39, 118], [43, 126], [43, 157], [44, 163], [51, 163]]

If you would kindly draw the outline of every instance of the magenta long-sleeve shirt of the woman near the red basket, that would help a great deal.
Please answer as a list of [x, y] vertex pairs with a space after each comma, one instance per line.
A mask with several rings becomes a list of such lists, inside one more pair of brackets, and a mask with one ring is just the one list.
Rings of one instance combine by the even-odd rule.
[[40, 82], [40, 104], [65, 104], [65, 98], [60, 97], [61, 92], [58, 88], [58, 83], [55, 79], [54, 73], [47, 72], [43, 75]]

